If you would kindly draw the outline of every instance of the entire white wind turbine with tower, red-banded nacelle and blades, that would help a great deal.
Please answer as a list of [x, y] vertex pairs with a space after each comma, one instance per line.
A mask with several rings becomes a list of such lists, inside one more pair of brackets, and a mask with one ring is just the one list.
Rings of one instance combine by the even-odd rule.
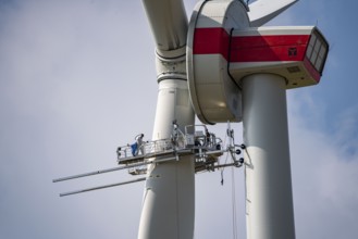
[[[198, 148], [187, 126], [195, 115], [203, 124], [243, 122], [247, 237], [295, 238], [285, 91], [318, 84], [329, 51], [317, 27], [261, 27], [295, 2], [200, 1], [188, 23], [183, 0], [143, 0], [159, 85], [153, 148], [125, 166], [54, 181], [147, 165], [146, 177], [129, 181], [146, 180], [138, 239], [193, 238]], [[173, 138], [175, 146], [166, 141]], [[126, 150], [119, 149], [119, 159]], [[208, 159], [235, 146], [200, 150]]]

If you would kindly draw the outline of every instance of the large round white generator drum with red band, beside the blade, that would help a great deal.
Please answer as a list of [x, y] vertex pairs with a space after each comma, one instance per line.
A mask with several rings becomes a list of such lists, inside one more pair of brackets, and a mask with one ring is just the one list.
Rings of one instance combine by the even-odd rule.
[[193, 108], [205, 124], [242, 121], [242, 92], [229, 73], [233, 29], [249, 27], [242, 1], [201, 1], [194, 9], [187, 37], [187, 79]]

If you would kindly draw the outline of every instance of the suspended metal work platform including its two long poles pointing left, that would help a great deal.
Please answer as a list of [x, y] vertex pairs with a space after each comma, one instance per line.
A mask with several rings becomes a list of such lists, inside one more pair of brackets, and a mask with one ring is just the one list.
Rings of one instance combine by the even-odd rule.
[[[147, 166], [150, 164], [180, 161], [182, 156], [189, 154], [194, 155], [195, 173], [209, 172], [227, 166], [240, 167], [244, 163], [244, 159], [237, 159], [237, 155], [240, 154], [240, 149], [245, 149], [245, 146], [235, 144], [233, 130], [229, 128], [226, 133], [230, 142], [224, 147], [221, 138], [210, 133], [205, 125], [188, 125], [183, 133], [174, 122], [171, 137], [168, 139], [144, 141], [144, 135], [140, 134], [135, 137], [136, 141], [134, 143], [119, 147], [116, 154], [118, 164], [120, 165], [116, 167], [61, 177], [52, 181], [71, 180], [122, 169], [127, 169], [131, 175], [137, 176], [146, 174]], [[219, 158], [224, 153], [229, 153], [232, 161], [230, 163], [220, 164]], [[64, 192], [60, 193], [60, 196], [76, 194], [144, 180], [146, 180], [146, 177]]]

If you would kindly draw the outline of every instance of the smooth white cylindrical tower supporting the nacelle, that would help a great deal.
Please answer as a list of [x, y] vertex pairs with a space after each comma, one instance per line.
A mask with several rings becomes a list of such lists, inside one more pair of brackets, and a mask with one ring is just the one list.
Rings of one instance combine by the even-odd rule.
[[243, 79], [248, 239], [294, 239], [285, 79]]

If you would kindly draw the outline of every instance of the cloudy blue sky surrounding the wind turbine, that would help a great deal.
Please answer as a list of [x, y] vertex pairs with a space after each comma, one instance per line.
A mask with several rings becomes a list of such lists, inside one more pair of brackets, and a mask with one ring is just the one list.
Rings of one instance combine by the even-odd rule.
[[[331, 45], [321, 83], [287, 91], [297, 238], [358, 235], [357, 7], [300, 0], [269, 23], [318, 25]], [[113, 167], [119, 144], [151, 137], [153, 48], [140, 1], [0, 0], [0, 238], [136, 238], [143, 183], [59, 198], [131, 177], [52, 179]], [[234, 177], [245, 238], [243, 169]], [[232, 238], [231, 178], [196, 176], [195, 238]]]

